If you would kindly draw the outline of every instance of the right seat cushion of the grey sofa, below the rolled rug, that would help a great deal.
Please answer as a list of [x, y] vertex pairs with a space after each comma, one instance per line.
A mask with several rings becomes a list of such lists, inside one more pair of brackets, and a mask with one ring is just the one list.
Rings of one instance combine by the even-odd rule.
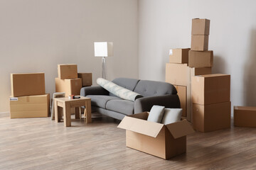
[[107, 101], [106, 108], [110, 111], [116, 111], [119, 113], [123, 113], [124, 115], [132, 115], [134, 114], [134, 102], [127, 100], [111, 100]]

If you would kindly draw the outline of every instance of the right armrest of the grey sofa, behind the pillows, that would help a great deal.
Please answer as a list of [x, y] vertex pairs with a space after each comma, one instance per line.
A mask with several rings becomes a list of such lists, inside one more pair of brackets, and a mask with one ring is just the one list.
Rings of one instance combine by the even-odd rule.
[[150, 111], [154, 105], [165, 106], [166, 108], [181, 108], [181, 103], [177, 94], [150, 96], [138, 98], [134, 102], [134, 114]]

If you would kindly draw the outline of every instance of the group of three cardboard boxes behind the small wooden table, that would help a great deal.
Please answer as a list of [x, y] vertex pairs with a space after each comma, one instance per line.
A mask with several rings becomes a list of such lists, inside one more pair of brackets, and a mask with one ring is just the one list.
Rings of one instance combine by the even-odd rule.
[[65, 92], [65, 96], [80, 95], [82, 86], [92, 86], [92, 73], [78, 73], [77, 64], [58, 64], [56, 92]]

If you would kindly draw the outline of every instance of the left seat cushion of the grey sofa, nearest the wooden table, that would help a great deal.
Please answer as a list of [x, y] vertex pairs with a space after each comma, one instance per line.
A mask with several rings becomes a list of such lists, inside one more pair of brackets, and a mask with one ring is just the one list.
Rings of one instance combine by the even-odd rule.
[[118, 97], [105, 95], [87, 95], [86, 97], [91, 98], [92, 106], [98, 106], [100, 108], [106, 108], [107, 101], [120, 99]]

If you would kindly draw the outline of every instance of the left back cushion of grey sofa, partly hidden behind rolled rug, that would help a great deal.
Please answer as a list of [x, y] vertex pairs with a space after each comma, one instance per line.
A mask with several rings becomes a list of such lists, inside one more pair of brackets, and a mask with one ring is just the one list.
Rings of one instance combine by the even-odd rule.
[[[125, 89], [129, 89], [130, 91], [134, 91], [135, 86], [138, 84], [139, 79], [129, 79], [129, 78], [117, 78], [112, 81], [114, 84], [118, 86], [122, 86]], [[110, 93], [110, 96], [115, 96], [114, 94]]]

